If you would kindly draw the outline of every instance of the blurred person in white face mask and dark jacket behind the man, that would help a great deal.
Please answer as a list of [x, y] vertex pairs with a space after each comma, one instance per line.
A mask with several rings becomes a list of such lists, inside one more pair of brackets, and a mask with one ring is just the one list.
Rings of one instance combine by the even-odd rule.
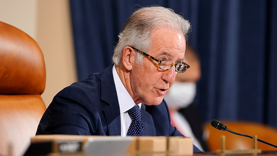
[[194, 144], [202, 151], [208, 151], [203, 139], [203, 118], [195, 103], [196, 82], [201, 77], [200, 60], [197, 52], [188, 45], [185, 62], [191, 68], [184, 74], [177, 74], [175, 82], [164, 96], [171, 114], [171, 122], [185, 136], [193, 138]]

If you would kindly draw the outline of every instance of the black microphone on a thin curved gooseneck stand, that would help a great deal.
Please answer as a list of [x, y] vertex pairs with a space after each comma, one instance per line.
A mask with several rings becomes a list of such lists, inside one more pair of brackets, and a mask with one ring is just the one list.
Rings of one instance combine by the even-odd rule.
[[[248, 137], [248, 138], [253, 139], [253, 137], [250, 136], [250, 135], [241, 134], [241, 133], [236, 133], [236, 132], [231, 131], [230, 129], [227, 129], [227, 126], [224, 125], [222, 122], [220, 122], [220, 121], [218, 121], [218, 120], [213, 120], [213, 121], [211, 121], [211, 125], [212, 125], [213, 127], [215, 127], [215, 129], [219, 129], [219, 130], [223, 130], [223, 131], [226, 130], [226, 131], [228, 131], [228, 132], [230, 132], [230, 133], [233, 133], [233, 134], [236, 134], [236, 135], [240, 135], [240, 136], [243, 136], [243, 137]], [[262, 142], [262, 143], [264, 143], [264, 144], [267, 144], [267, 145], [269, 145], [269, 146], [272, 146], [272, 147], [277, 148], [276, 145], [273, 145], [273, 144], [271, 144], [271, 143], [265, 142], [265, 141], [263, 141], [263, 140], [257, 139], [257, 141]]]

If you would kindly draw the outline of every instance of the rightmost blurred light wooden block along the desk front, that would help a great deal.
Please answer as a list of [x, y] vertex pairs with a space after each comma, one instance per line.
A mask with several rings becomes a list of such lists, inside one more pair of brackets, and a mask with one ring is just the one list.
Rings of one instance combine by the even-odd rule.
[[188, 137], [169, 137], [168, 152], [171, 155], [193, 155], [193, 141]]

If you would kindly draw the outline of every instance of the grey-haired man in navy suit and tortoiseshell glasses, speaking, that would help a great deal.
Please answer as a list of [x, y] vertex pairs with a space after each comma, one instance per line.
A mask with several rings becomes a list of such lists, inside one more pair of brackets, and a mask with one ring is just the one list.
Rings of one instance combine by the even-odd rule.
[[[175, 80], [175, 70], [188, 67], [182, 61], [189, 30], [190, 23], [170, 9], [156, 6], [136, 10], [118, 35], [114, 65], [58, 92], [36, 134], [124, 137], [131, 120], [126, 112], [138, 105], [144, 135], [182, 136], [171, 125], [163, 96]], [[140, 50], [164, 61], [163, 64], [174, 62], [185, 68], [159, 66], [158, 60]], [[194, 146], [194, 152], [201, 151]]]

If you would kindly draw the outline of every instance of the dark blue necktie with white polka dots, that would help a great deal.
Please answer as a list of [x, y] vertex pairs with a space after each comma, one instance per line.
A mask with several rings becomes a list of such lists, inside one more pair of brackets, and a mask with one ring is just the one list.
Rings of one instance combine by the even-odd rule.
[[141, 113], [138, 105], [129, 109], [128, 114], [132, 118], [131, 125], [128, 129], [127, 136], [144, 136], [143, 125], [141, 123]]

